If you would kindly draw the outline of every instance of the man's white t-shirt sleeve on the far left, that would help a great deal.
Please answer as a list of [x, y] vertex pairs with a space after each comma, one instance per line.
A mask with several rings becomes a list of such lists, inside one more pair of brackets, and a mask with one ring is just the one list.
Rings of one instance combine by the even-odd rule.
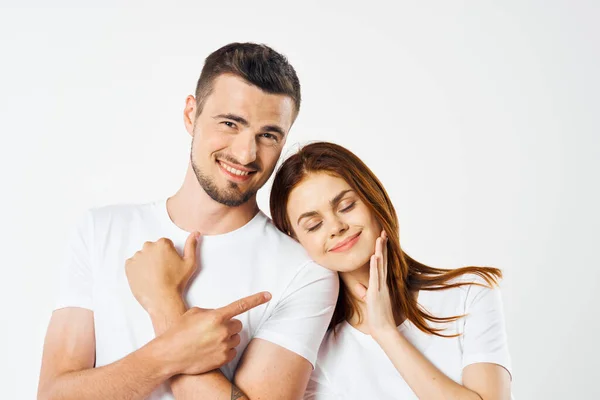
[[62, 264], [59, 265], [55, 310], [65, 307], [93, 310], [92, 235], [92, 212], [88, 211], [67, 239]]

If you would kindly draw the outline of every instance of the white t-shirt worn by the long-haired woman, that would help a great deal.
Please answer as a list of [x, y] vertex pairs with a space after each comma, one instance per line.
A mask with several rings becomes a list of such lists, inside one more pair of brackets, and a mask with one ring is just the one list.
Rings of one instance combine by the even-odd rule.
[[[481, 282], [475, 275], [461, 280]], [[462, 370], [474, 363], [494, 363], [509, 373], [510, 356], [504, 327], [500, 290], [476, 285], [439, 291], [420, 291], [418, 303], [434, 316], [467, 316], [445, 326], [442, 338], [420, 331], [410, 321], [398, 329], [440, 371], [461, 383]], [[347, 322], [338, 325], [337, 335], [327, 332], [319, 350], [305, 399], [417, 399], [390, 359], [375, 340]]]

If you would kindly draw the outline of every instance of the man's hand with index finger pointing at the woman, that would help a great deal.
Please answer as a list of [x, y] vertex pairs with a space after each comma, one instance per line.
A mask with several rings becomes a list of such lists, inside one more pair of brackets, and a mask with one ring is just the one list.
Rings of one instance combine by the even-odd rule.
[[261, 292], [237, 300], [228, 306], [207, 310], [190, 308], [157, 338], [167, 349], [177, 373], [197, 375], [219, 368], [235, 358], [242, 323], [233, 317], [271, 299]]

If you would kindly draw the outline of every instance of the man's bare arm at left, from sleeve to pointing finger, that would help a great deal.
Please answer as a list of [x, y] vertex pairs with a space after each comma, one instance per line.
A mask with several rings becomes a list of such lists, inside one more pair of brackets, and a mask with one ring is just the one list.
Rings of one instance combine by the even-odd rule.
[[[254, 307], [267, 300], [264, 293], [244, 299]], [[236, 304], [216, 310], [192, 307], [144, 347], [93, 368], [93, 312], [82, 308], [55, 311], [44, 345], [38, 397], [139, 399], [173, 375], [212, 371], [236, 356], [242, 327], [232, 318], [239, 312]]]

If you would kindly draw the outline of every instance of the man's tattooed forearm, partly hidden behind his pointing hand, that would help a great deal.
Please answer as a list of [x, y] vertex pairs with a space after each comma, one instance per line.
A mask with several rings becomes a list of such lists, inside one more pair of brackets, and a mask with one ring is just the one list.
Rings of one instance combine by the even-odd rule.
[[[162, 304], [161, 310], [150, 312], [154, 332], [161, 335], [185, 312], [187, 306], [181, 298]], [[170, 379], [171, 391], [177, 400], [215, 399], [247, 400], [248, 397], [216, 369], [201, 375], [176, 375]]]

